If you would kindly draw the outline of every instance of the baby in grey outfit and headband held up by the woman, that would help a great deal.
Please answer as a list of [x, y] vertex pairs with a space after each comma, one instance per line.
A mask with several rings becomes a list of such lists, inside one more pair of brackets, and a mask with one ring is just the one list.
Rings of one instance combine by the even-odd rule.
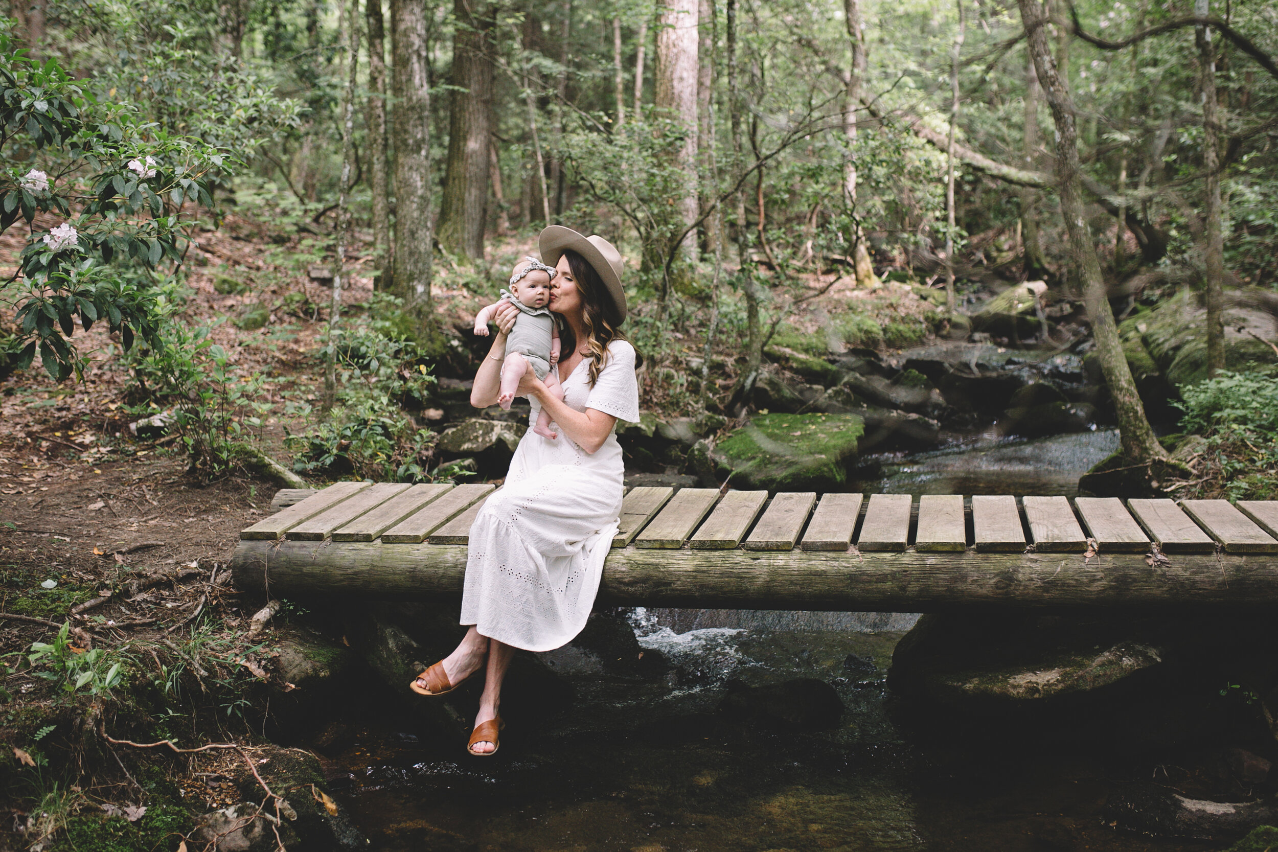
[[[501, 307], [502, 301], [510, 301], [519, 308], [515, 318], [515, 327], [506, 337], [506, 358], [501, 365], [501, 393], [497, 396], [497, 405], [510, 410], [510, 402], [515, 399], [519, 388], [519, 379], [528, 370], [533, 370], [537, 378], [546, 382], [547, 390], [557, 399], [564, 399], [564, 388], [558, 383], [558, 377], [551, 372], [551, 367], [558, 363], [560, 339], [558, 323], [550, 312], [551, 278], [557, 270], [546, 266], [541, 261], [525, 257], [510, 275], [510, 291], [501, 291], [501, 299], [488, 305], [475, 316], [475, 335], [486, 337], [488, 335], [488, 321]], [[550, 429], [551, 415], [542, 409], [537, 418], [533, 432], [543, 438], [558, 438], [558, 434]]]

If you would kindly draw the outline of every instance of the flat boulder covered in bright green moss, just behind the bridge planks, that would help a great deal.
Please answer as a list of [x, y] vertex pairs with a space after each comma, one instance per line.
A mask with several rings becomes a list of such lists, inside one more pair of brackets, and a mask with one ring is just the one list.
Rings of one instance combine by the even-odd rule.
[[708, 461], [734, 488], [838, 491], [864, 432], [852, 414], [764, 414], [709, 450]]

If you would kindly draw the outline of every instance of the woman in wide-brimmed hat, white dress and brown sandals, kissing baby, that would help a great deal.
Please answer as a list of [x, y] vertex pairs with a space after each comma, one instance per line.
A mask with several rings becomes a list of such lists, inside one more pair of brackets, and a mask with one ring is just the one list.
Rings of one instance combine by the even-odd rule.
[[[524, 433], [505, 485], [470, 528], [461, 598], [461, 623], [470, 630], [412, 683], [422, 695], [442, 695], [487, 659], [466, 746], [477, 756], [497, 751], [501, 681], [515, 649], [552, 650], [585, 626], [621, 512], [624, 468], [613, 427], [619, 419], [639, 420], [638, 355], [617, 331], [626, 318], [621, 255], [602, 236], [558, 225], [542, 231], [538, 248], [557, 271], [550, 307], [564, 321], [557, 367], [564, 399], [530, 373], [519, 393], [532, 401], [533, 423], [542, 407], [550, 413], [558, 438]], [[516, 313], [506, 304], [495, 317], [498, 333], [470, 392], [475, 407], [497, 401]]]

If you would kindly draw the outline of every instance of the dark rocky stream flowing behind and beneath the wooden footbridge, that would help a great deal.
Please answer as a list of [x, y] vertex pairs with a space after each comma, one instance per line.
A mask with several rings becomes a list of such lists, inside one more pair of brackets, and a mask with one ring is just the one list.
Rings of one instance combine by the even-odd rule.
[[[1072, 494], [1112, 430], [974, 439], [886, 460], [866, 491]], [[1120, 834], [1108, 795], [1148, 766], [1102, 750], [967, 736], [905, 713], [886, 685], [916, 616], [634, 609], [617, 616], [661, 672], [574, 646], [543, 655], [574, 700], [511, 714], [501, 751], [419, 733], [376, 697], [328, 761], [374, 849], [1190, 852], [1222, 844]], [[778, 685], [814, 678], [842, 711], [767, 715]], [[827, 688], [827, 687], [822, 687]], [[732, 700], [736, 696], [736, 700]], [[741, 700], [741, 696], [745, 696]], [[818, 701], [819, 704], [819, 701]]]

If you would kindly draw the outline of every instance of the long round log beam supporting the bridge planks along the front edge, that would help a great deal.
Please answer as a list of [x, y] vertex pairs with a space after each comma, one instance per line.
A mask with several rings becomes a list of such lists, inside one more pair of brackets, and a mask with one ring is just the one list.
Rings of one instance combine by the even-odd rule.
[[[619, 548], [604, 605], [835, 612], [1171, 609], [1278, 605], [1278, 556], [1135, 553], [855, 553]], [[239, 543], [240, 589], [272, 595], [460, 598], [466, 548], [380, 542]]]

